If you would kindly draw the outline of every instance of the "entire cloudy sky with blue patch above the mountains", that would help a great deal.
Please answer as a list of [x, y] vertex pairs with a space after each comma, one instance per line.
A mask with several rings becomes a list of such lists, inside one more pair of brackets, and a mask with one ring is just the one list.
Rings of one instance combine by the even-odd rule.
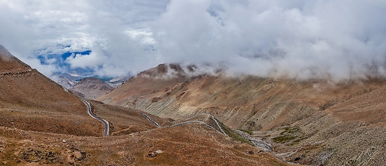
[[0, 0], [0, 44], [33, 68], [134, 75], [386, 77], [385, 0]]

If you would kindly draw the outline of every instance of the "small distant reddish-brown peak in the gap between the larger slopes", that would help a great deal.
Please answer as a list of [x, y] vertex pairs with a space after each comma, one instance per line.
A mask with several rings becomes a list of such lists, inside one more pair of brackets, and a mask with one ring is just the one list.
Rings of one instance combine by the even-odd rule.
[[80, 93], [80, 96], [87, 99], [95, 99], [100, 97], [101, 95], [105, 95], [109, 91], [112, 91], [114, 88], [109, 86], [103, 80], [100, 80], [96, 77], [88, 77], [80, 82], [77, 82], [73, 87], [71, 87], [70, 91], [75, 91]]

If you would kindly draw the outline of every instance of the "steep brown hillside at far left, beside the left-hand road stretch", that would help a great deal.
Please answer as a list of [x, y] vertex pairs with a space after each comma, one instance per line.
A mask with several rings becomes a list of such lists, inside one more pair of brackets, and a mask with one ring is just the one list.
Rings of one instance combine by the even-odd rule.
[[0, 126], [29, 131], [100, 136], [76, 95], [19, 61], [1, 46]]

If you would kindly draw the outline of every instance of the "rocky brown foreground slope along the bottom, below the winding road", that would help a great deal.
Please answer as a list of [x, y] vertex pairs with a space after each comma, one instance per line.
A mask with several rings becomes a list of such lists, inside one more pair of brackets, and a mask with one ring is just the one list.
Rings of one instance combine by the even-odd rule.
[[0, 127], [0, 140], [4, 165], [289, 165], [200, 124], [106, 138]]

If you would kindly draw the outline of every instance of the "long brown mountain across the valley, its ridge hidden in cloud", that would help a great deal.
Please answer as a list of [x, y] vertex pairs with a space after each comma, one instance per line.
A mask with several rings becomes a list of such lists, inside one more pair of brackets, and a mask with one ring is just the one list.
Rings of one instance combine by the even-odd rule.
[[293, 163], [386, 163], [383, 78], [331, 82], [222, 72], [188, 77], [181, 68], [151, 68], [98, 100], [162, 118], [210, 113], [231, 129], [272, 145], [277, 156]]

